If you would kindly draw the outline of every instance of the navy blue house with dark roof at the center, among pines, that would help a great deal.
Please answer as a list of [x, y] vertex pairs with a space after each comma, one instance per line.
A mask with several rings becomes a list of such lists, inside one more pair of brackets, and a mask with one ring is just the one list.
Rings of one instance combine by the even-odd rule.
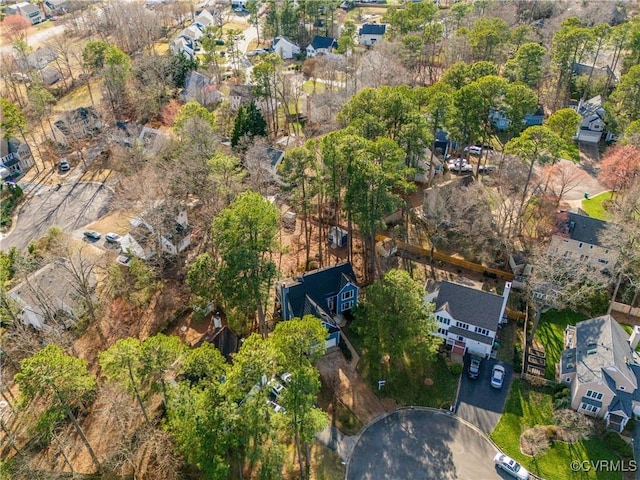
[[326, 347], [340, 341], [342, 314], [358, 303], [359, 289], [350, 263], [340, 263], [276, 282], [276, 309], [283, 320], [313, 315], [328, 330]]

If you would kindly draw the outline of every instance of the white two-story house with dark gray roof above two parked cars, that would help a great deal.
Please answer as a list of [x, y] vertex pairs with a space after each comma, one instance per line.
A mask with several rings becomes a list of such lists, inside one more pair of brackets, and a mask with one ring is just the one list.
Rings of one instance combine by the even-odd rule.
[[425, 298], [435, 303], [438, 329], [434, 335], [444, 339], [452, 353], [469, 352], [489, 358], [510, 291], [510, 282], [505, 284], [502, 295], [442, 282]]

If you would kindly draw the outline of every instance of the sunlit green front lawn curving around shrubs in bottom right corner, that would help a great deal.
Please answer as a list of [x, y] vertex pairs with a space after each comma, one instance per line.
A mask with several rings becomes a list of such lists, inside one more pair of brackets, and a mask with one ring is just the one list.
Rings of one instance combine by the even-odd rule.
[[522, 380], [514, 380], [504, 414], [491, 434], [493, 441], [507, 455], [522, 463], [529, 471], [545, 479], [576, 480], [620, 479], [619, 473], [593, 471], [576, 473], [571, 470], [574, 460], [618, 460], [615, 452], [601, 440], [589, 438], [575, 444], [553, 442], [549, 449], [536, 458], [520, 452], [520, 434], [535, 425], [553, 423], [553, 396], [549, 388], [534, 388]]

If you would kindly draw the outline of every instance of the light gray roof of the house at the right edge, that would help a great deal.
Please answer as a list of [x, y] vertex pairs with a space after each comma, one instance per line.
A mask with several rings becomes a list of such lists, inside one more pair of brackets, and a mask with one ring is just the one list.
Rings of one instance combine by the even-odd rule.
[[633, 361], [629, 335], [611, 315], [592, 318], [576, 324], [576, 378], [580, 383], [602, 380], [602, 369], [616, 370], [636, 383], [636, 376], [627, 362]]

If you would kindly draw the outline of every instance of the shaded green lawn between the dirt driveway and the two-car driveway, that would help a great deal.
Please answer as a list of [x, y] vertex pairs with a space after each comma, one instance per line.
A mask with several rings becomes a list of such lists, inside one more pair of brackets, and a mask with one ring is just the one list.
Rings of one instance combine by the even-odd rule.
[[[434, 361], [422, 359], [402, 359], [402, 366], [393, 366], [382, 374], [386, 385], [378, 392], [379, 369], [362, 351], [362, 340], [353, 331], [345, 328], [345, 332], [354, 348], [360, 354], [358, 371], [362, 374], [372, 390], [380, 397], [393, 398], [399, 405], [416, 405], [423, 407], [448, 408], [453, 403], [458, 389], [460, 375], [453, 374], [445, 359], [438, 355]], [[379, 360], [378, 360], [379, 361]], [[425, 385], [425, 379], [433, 380], [432, 385]]]

